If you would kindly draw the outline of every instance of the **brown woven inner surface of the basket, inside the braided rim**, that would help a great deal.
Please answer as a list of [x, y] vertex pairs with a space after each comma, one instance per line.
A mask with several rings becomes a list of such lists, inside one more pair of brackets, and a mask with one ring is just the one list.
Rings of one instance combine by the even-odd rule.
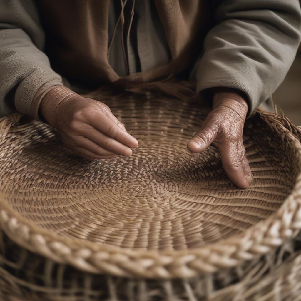
[[[247, 121], [249, 189], [228, 180], [217, 149], [186, 143], [208, 108], [191, 97], [93, 94], [138, 139], [132, 157], [89, 162], [50, 126], [21, 119], [1, 148], [0, 193], [23, 218], [62, 236], [123, 248], [181, 250], [237, 234], [277, 210], [293, 187], [290, 151]], [[290, 163], [290, 164], [288, 164]]]

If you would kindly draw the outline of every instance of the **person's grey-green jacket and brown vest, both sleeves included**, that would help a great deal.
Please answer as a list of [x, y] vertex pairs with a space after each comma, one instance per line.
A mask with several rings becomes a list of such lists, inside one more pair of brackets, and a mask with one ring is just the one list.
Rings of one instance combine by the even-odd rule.
[[[138, 17], [126, 28], [124, 51], [121, 40], [112, 39], [120, 12], [109, 0], [0, 0], [0, 116], [15, 110], [36, 116], [35, 95], [52, 85], [71, 83], [77, 92], [87, 82], [134, 84], [186, 67], [193, 70], [197, 92], [238, 89], [250, 113], [272, 95], [296, 55], [298, 0], [151, 3], [136, 4]], [[132, 15], [124, 17], [126, 26]], [[125, 56], [119, 59], [120, 53]]]

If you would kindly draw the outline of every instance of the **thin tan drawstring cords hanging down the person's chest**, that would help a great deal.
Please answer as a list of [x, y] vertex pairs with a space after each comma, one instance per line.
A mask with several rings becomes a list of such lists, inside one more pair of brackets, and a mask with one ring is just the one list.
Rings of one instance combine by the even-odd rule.
[[[108, 53], [107, 53], [107, 57], [108, 57], [108, 60], [110, 58], [110, 50], [112, 48], [112, 45], [113, 45], [113, 41], [115, 39], [115, 36], [116, 36], [116, 30], [117, 30], [117, 27], [119, 25], [119, 22], [121, 21], [121, 45], [122, 45], [122, 51], [123, 51], [123, 58], [126, 62], [126, 73], [129, 74], [129, 64], [128, 64], [128, 61], [127, 61], [127, 55], [126, 55], [126, 49], [125, 49], [125, 45], [124, 45], [124, 39], [123, 39], [123, 33], [124, 33], [124, 8], [126, 6], [126, 2], [127, 0], [120, 0], [120, 4], [121, 4], [121, 12], [119, 14], [119, 18], [114, 26], [114, 29], [113, 29], [113, 35], [112, 35], [112, 39], [111, 39], [111, 42], [109, 44], [109, 47], [108, 47]], [[127, 40], [129, 39], [129, 34], [130, 34], [130, 30], [131, 30], [131, 26], [132, 26], [132, 22], [133, 22], [133, 18], [134, 18], [134, 7], [135, 7], [135, 0], [133, 0], [133, 4], [132, 4], [132, 10], [131, 10], [131, 19], [130, 19], [130, 23], [129, 23], [129, 29], [128, 29], [128, 32], [127, 32]]]

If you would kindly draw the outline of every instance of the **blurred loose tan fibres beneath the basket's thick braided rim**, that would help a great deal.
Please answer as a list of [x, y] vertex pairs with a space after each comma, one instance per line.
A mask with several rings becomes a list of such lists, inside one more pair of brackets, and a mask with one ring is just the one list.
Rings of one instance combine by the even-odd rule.
[[[27, 252], [4, 236], [0, 300], [22, 301], [267, 301], [300, 300], [299, 235], [267, 256], [190, 279], [131, 279], [81, 272]], [[299, 251], [298, 251], [299, 250]], [[2, 295], [1, 295], [2, 293]], [[2, 299], [1, 299], [2, 298]]]

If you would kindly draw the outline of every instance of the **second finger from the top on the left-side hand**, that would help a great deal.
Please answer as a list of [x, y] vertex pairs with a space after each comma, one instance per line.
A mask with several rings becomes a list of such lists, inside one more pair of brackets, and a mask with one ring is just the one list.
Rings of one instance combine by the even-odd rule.
[[127, 147], [124, 144], [118, 142], [117, 140], [104, 135], [103, 133], [99, 132], [94, 128], [91, 128], [90, 130], [85, 129], [83, 131], [80, 131], [80, 134], [85, 138], [88, 138], [88, 140], [93, 141], [101, 148], [104, 148], [105, 150], [114, 154], [129, 157], [133, 153], [130, 147]]

